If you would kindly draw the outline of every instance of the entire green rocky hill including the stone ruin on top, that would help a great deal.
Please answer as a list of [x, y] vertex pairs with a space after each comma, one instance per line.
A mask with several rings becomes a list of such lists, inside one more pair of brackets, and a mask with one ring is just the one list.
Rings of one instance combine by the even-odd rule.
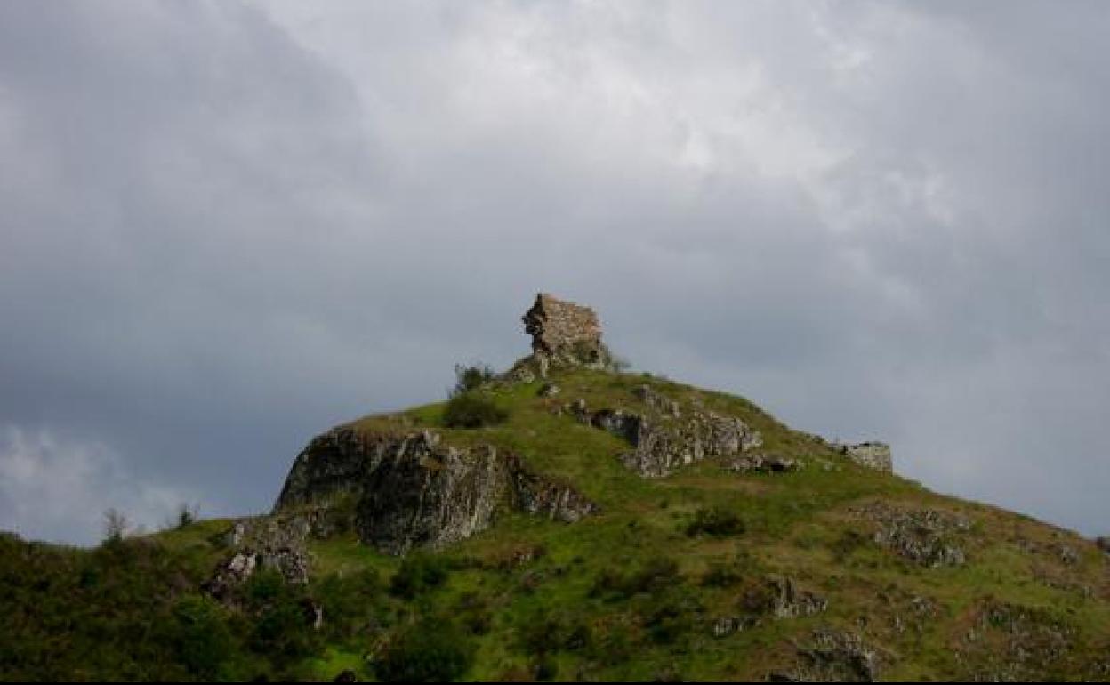
[[1110, 557], [756, 404], [532, 354], [324, 431], [272, 512], [0, 538], [6, 679], [1110, 679]]

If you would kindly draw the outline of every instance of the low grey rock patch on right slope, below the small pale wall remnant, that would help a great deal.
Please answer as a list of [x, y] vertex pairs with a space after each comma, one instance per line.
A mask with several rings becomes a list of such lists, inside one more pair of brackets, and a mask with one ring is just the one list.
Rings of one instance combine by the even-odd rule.
[[900, 510], [870, 504], [856, 510], [879, 523], [874, 540], [911, 562], [929, 568], [961, 566], [967, 558], [958, 536], [971, 528], [970, 522], [931, 508]]

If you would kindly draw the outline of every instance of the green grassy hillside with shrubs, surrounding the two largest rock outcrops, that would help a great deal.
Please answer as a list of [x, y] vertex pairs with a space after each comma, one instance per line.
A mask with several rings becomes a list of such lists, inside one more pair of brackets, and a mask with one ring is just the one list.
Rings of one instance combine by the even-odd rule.
[[[313, 541], [311, 581], [201, 584], [226, 521], [72, 550], [0, 540], [4, 679], [1108, 679], [1110, 565], [1078, 535], [864, 469], [750, 402], [643, 374], [556, 373], [482, 391], [507, 412], [447, 429], [444, 405], [352, 425], [493, 444], [602, 513], [505, 512], [438, 554]], [[643, 479], [614, 435], [557, 410], [637, 409], [640, 384], [740, 417], [796, 473], [705, 461]], [[313, 626], [306, 607], [323, 608]]]

